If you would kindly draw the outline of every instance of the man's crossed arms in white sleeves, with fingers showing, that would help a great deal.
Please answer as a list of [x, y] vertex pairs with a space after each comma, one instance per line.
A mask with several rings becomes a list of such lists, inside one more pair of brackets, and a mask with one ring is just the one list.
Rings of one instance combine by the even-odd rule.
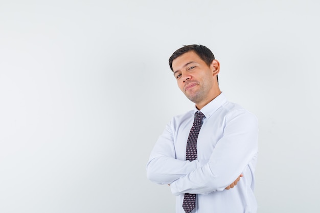
[[209, 159], [175, 159], [173, 127], [167, 125], [151, 152], [147, 177], [159, 184], [170, 184], [174, 195], [209, 194], [237, 184], [245, 167], [257, 153], [256, 117], [239, 110], [223, 130]]

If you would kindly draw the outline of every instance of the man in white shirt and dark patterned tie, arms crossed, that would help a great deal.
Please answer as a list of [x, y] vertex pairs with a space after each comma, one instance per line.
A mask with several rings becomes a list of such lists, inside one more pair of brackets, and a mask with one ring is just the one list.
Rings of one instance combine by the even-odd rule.
[[159, 136], [148, 179], [170, 185], [177, 213], [256, 212], [256, 116], [226, 100], [220, 64], [205, 46], [178, 49], [169, 65], [195, 108], [173, 117]]

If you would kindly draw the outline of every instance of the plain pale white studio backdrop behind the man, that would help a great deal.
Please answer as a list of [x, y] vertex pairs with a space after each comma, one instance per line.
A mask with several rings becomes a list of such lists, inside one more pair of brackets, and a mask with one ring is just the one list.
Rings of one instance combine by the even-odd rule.
[[318, 1], [0, 1], [0, 212], [174, 212], [146, 178], [203, 44], [256, 114], [258, 212], [319, 212]]

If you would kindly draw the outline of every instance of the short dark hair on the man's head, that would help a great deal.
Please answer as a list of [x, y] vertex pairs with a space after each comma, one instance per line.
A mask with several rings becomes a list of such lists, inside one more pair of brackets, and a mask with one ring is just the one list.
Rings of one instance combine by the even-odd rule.
[[[210, 66], [211, 62], [215, 59], [213, 53], [209, 48], [203, 45], [198, 44], [191, 44], [191, 45], [184, 45], [182, 48], [176, 50], [169, 58], [169, 66], [173, 72], [172, 68], [172, 61], [177, 57], [185, 54], [189, 51], [194, 51], [208, 66]], [[217, 76], [217, 81], [219, 83], [219, 79]]]

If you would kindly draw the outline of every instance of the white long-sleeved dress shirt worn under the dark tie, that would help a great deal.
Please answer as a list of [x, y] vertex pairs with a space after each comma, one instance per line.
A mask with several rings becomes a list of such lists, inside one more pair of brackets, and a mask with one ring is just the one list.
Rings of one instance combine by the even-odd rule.
[[[159, 136], [147, 163], [147, 177], [169, 184], [176, 197], [176, 212], [184, 193], [197, 194], [197, 213], [257, 212], [254, 172], [257, 162], [256, 116], [228, 102], [223, 93], [200, 111], [205, 115], [197, 140], [198, 159], [186, 160], [189, 131], [196, 108], [174, 116]], [[240, 174], [243, 177], [230, 190]]]

